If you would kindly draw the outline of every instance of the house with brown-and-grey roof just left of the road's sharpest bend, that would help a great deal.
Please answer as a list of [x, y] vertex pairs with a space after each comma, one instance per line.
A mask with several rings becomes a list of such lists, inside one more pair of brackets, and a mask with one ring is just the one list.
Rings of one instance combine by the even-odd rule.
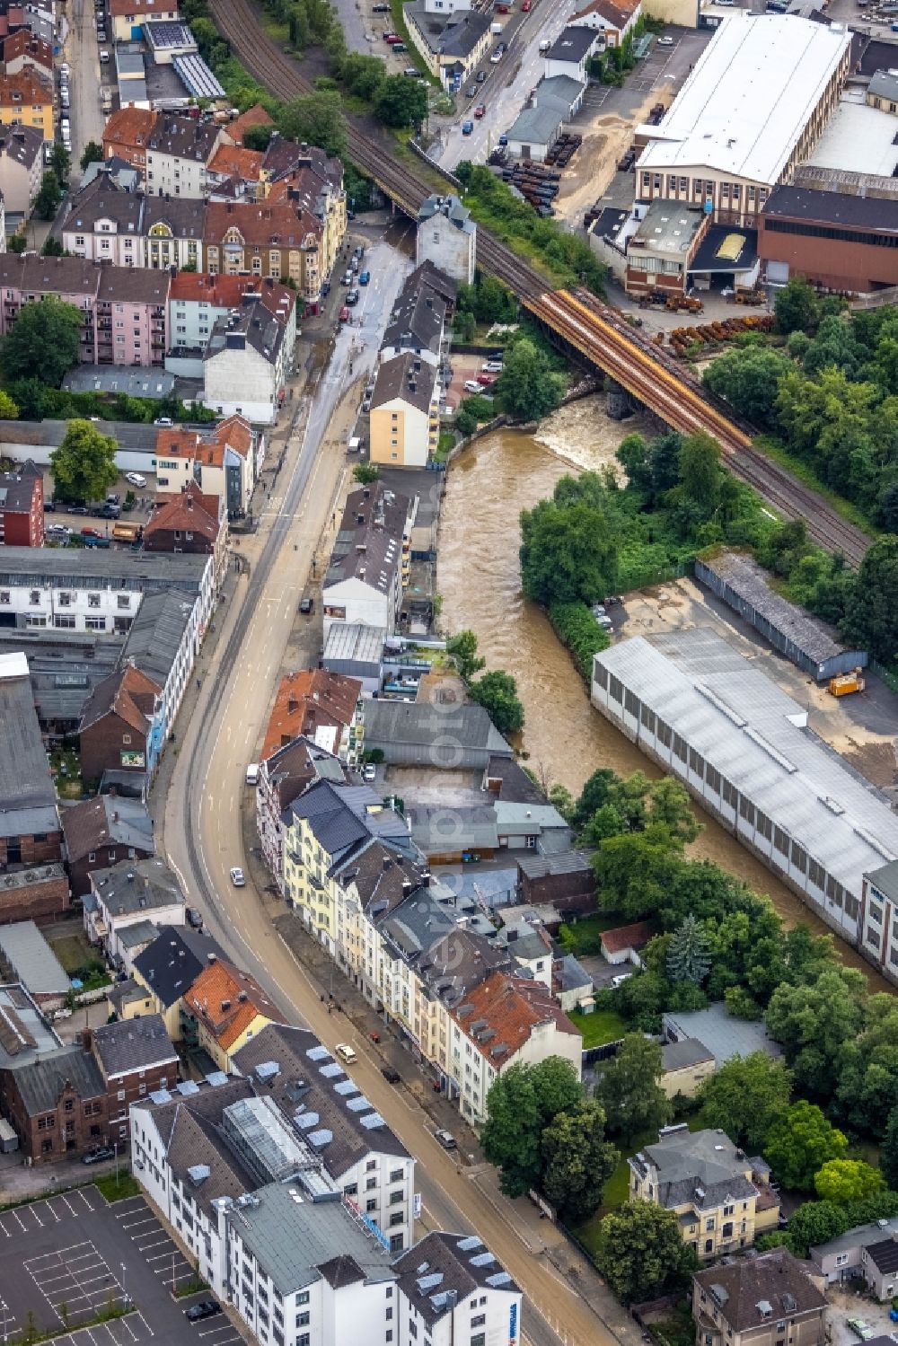
[[100, 794], [63, 810], [66, 864], [75, 896], [90, 892], [90, 872], [155, 853], [152, 821], [139, 800]]

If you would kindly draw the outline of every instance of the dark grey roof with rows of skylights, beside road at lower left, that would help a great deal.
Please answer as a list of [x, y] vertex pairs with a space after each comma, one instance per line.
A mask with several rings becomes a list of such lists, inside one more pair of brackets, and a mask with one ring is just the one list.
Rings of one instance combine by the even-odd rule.
[[232, 1065], [254, 1079], [256, 1067], [272, 1062], [277, 1071], [267, 1075], [264, 1097], [273, 1098], [289, 1119], [298, 1112], [318, 1113], [320, 1129], [331, 1137], [318, 1151], [331, 1178], [341, 1178], [369, 1154], [408, 1158], [405, 1145], [382, 1119], [378, 1125], [365, 1125], [365, 1117], [377, 1116], [370, 1104], [359, 1110], [347, 1105], [359, 1090], [349, 1088], [351, 1081], [342, 1066], [307, 1028], [269, 1023], [234, 1053]]

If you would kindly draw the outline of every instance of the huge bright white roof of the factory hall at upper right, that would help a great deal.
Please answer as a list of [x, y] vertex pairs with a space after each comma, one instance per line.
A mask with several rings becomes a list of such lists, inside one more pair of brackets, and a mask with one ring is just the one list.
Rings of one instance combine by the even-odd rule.
[[841, 26], [794, 15], [726, 19], [661, 125], [645, 128], [660, 139], [638, 167], [775, 183], [850, 43]]

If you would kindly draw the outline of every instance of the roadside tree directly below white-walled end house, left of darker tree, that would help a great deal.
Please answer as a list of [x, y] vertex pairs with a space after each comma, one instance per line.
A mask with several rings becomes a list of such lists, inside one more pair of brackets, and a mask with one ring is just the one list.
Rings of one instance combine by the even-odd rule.
[[499, 1170], [506, 1197], [522, 1197], [540, 1184], [541, 1137], [563, 1112], [575, 1112], [583, 1097], [574, 1066], [548, 1057], [536, 1066], [512, 1066], [494, 1079], [486, 1096], [483, 1154]]

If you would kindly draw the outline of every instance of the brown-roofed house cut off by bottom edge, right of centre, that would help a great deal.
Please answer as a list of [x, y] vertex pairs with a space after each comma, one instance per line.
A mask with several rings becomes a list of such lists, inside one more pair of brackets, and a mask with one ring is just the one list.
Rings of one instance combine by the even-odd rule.
[[786, 1324], [794, 1346], [821, 1346], [827, 1300], [806, 1265], [788, 1248], [774, 1248], [697, 1272], [692, 1316], [699, 1346], [775, 1346]]

